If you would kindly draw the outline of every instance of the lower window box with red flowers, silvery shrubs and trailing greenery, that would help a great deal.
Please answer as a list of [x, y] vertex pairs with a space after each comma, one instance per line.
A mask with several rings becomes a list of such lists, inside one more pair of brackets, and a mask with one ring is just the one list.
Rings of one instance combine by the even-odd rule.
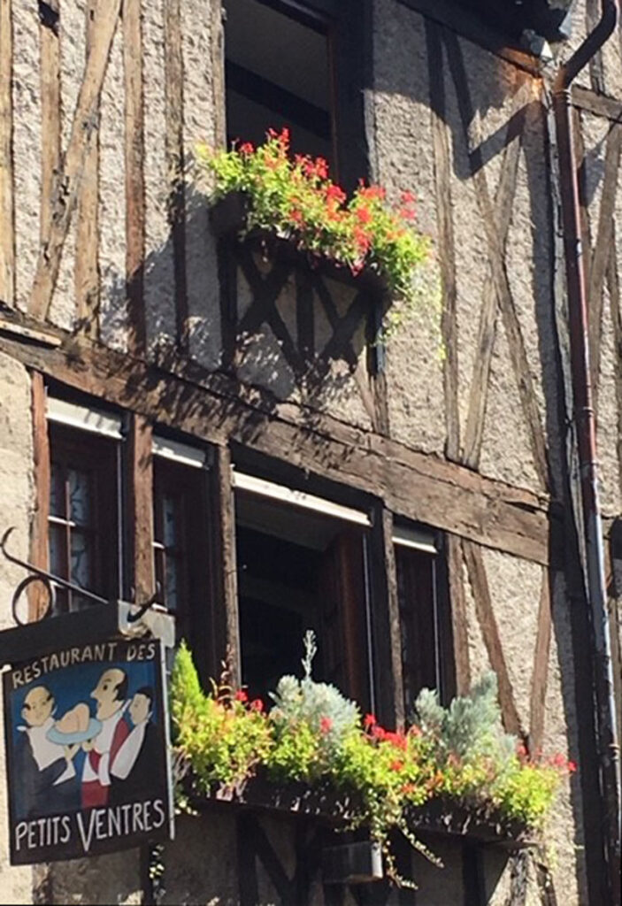
[[424, 689], [416, 723], [394, 732], [311, 679], [312, 633], [305, 647], [303, 678], [282, 677], [269, 712], [226, 681], [206, 695], [182, 648], [171, 689], [182, 804], [228, 802], [364, 827], [400, 883], [394, 831], [432, 861], [419, 832], [512, 848], [538, 841], [561, 778], [576, 768], [561, 755], [531, 758], [502, 732], [493, 674], [449, 708]]

